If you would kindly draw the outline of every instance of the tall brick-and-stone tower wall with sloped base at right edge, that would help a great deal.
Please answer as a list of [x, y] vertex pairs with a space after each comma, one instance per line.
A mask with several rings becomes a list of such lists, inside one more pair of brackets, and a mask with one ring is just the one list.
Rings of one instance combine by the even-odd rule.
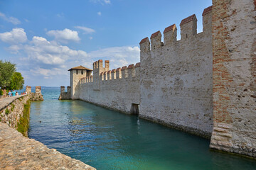
[[256, 1], [213, 0], [210, 147], [256, 157]]

